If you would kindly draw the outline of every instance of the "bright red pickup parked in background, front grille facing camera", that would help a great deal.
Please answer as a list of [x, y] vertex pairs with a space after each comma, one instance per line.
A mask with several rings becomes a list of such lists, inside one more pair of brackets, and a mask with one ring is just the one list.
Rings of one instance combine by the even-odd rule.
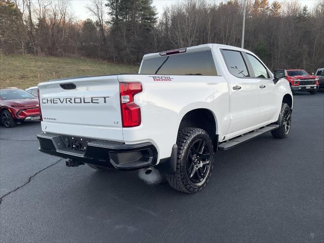
[[303, 69], [290, 69], [286, 71], [286, 79], [290, 83], [293, 94], [296, 91], [307, 91], [311, 95], [317, 93], [319, 85], [317, 76], [310, 75]]

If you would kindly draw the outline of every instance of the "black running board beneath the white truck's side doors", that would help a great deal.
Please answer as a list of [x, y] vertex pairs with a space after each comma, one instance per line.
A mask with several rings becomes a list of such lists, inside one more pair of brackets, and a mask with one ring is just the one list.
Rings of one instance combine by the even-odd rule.
[[258, 136], [260, 136], [260, 135], [262, 135], [264, 133], [267, 133], [267, 132], [270, 132], [272, 130], [275, 130], [278, 127], [279, 127], [279, 125], [272, 124], [272, 125], [266, 126], [264, 128], [260, 128], [260, 129], [254, 130], [253, 132], [243, 134], [243, 135], [241, 135], [239, 137], [235, 137], [235, 138], [229, 139], [226, 142], [220, 143], [218, 145], [218, 149], [219, 150], [228, 150], [228, 149], [231, 149], [231, 148], [235, 147], [236, 145], [239, 145], [241, 143], [244, 143], [246, 141], [249, 141], [250, 139], [256, 138], [256, 137], [258, 137]]

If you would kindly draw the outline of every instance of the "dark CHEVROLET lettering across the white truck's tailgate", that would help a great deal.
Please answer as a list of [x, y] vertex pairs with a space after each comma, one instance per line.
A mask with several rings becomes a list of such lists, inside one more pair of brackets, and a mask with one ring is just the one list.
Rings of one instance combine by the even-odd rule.
[[76, 98], [43, 98], [42, 104], [100, 104], [107, 103], [106, 97], [76, 97]]

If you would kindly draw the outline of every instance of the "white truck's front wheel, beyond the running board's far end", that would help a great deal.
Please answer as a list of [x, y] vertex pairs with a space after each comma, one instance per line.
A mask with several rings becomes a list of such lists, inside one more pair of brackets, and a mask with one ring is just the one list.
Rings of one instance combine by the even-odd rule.
[[[274, 138], [288, 137], [288, 134], [290, 132], [290, 127], [291, 127], [291, 116], [292, 114], [289, 105], [286, 103], [282, 103], [279, 118], [275, 123], [279, 125], [279, 128], [271, 131], [271, 134]], [[288, 121], [286, 120], [286, 118], [288, 118]]]

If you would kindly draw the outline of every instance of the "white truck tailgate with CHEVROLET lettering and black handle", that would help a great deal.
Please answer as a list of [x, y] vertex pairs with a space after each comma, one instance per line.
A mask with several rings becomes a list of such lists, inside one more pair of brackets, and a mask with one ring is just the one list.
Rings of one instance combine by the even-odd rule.
[[123, 141], [117, 75], [58, 80], [38, 88], [44, 132]]

